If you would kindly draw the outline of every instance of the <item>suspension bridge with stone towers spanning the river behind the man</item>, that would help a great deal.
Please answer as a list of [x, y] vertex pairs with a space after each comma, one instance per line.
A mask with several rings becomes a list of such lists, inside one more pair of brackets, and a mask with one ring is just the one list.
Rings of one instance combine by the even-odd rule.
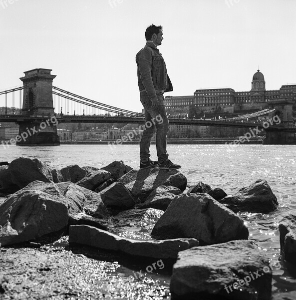
[[[38, 133], [29, 136], [26, 141], [19, 141], [17, 143], [19, 145], [59, 144], [56, 126], [48, 122], [45, 128], [40, 128], [40, 123], [52, 117], [59, 123], [145, 122], [144, 114], [141, 112], [111, 106], [52, 85], [55, 75], [51, 74], [51, 69], [32, 69], [25, 71], [24, 74], [20, 78], [23, 81], [22, 86], [0, 91], [0, 103], [5, 103], [4, 106], [0, 106], [0, 123], [18, 123], [19, 134], [28, 130], [32, 125], [37, 128]], [[296, 132], [292, 105], [292, 100], [283, 98], [271, 101], [270, 108], [223, 120], [169, 118], [169, 121], [171, 124], [181, 125], [264, 128], [270, 132], [271, 137], [267, 138], [269, 143], [273, 143], [272, 139], [280, 143], [289, 143], [289, 139], [295, 138], [294, 132]], [[269, 124], [267, 128], [264, 123], [258, 121], [258, 117], [264, 115], [268, 115], [269, 118], [278, 115], [281, 123]]]

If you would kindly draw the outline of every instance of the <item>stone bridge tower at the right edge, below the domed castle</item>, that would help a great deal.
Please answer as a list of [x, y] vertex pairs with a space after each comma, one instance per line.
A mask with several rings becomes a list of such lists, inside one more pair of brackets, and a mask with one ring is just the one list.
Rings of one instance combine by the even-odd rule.
[[[281, 120], [281, 129], [275, 129], [272, 126], [266, 128], [266, 138], [264, 144], [296, 144], [295, 124], [293, 119], [293, 103], [291, 98], [279, 98], [270, 100], [270, 109], [276, 110], [269, 113], [272, 119], [278, 115]], [[277, 118], [276, 118], [277, 119]], [[292, 131], [294, 129], [294, 131]]]

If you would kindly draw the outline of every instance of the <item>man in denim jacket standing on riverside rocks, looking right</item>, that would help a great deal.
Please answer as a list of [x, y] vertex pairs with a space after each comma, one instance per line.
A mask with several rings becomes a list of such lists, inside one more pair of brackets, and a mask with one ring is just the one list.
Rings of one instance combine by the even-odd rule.
[[[163, 93], [173, 90], [164, 59], [157, 49], [163, 40], [162, 26], [150, 25], [145, 31], [146, 45], [136, 55], [140, 101], [145, 109], [145, 130], [140, 141], [140, 168], [157, 165], [161, 169], [178, 169], [179, 164], [169, 160], [167, 132], [169, 119], [164, 105]], [[158, 161], [150, 160], [150, 142], [156, 132]]]

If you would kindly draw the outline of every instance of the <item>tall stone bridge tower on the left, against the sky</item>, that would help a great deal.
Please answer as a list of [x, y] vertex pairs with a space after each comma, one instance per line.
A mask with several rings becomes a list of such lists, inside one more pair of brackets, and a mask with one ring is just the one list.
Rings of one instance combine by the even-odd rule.
[[[57, 120], [52, 101], [51, 69], [36, 68], [24, 72], [23, 105], [19, 124], [17, 145], [59, 145]], [[27, 137], [26, 137], [27, 136]]]

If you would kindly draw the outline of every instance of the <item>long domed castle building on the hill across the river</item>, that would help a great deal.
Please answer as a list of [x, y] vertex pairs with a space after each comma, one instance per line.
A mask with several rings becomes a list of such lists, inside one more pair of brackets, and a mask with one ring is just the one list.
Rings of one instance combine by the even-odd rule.
[[236, 103], [266, 103], [272, 99], [289, 97], [296, 101], [296, 83], [282, 85], [280, 89], [266, 90], [264, 75], [260, 70], [253, 75], [250, 91], [238, 91], [233, 88], [197, 89], [190, 96], [166, 96], [167, 108], [186, 106], [231, 106]]

